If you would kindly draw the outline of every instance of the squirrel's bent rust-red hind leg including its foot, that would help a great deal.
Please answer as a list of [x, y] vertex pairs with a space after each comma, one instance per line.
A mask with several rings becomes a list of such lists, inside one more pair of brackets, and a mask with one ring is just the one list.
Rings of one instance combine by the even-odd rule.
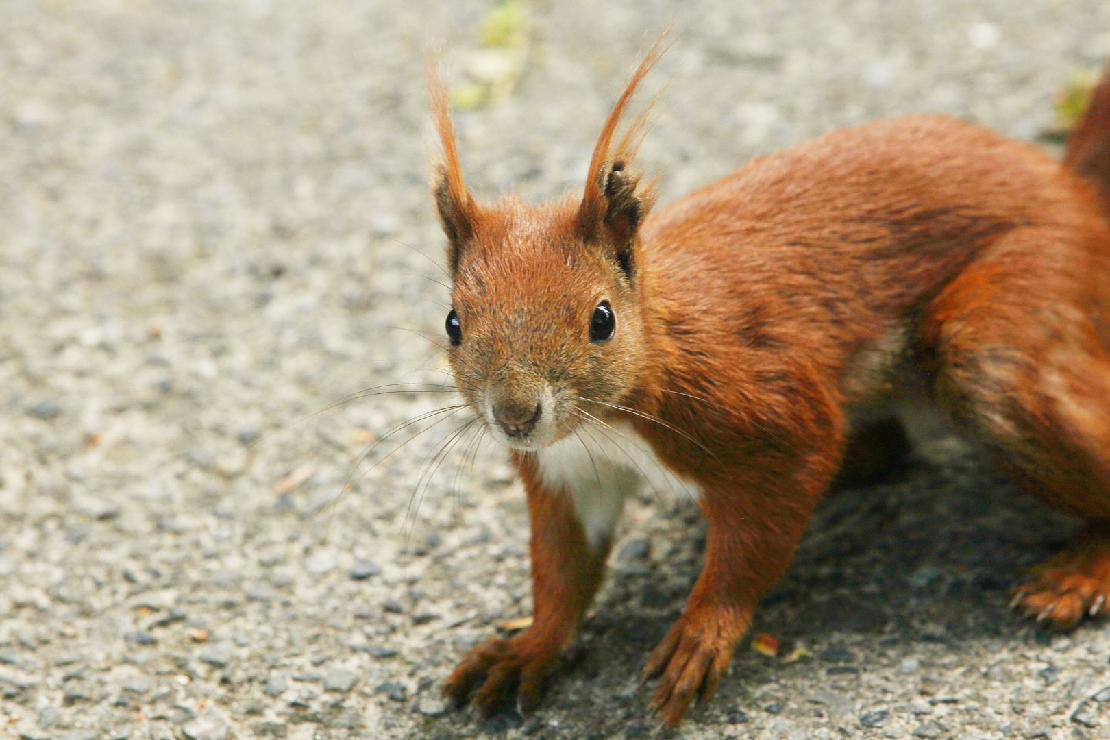
[[1089, 521], [1015, 589], [1015, 607], [1060, 628], [1110, 599], [1110, 327], [1090, 310], [1110, 305], [1110, 265], [1078, 240], [1007, 235], [935, 298], [925, 326], [957, 425], [1027, 490]]

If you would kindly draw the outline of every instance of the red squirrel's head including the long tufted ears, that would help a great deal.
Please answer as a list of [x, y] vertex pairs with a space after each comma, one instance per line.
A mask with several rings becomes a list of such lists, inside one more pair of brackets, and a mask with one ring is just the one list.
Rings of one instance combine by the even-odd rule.
[[427, 65], [442, 143], [433, 194], [447, 236], [448, 356], [463, 397], [503, 445], [537, 450], [601, 423], [647, 363], [639, 225], [653, 183], [630, 168], [646, 113], [614, 148], [636, 69], [598, 136], [582, 197], [538, 205], [514, 195], [484, 204], [463, 183], [447, 91]]

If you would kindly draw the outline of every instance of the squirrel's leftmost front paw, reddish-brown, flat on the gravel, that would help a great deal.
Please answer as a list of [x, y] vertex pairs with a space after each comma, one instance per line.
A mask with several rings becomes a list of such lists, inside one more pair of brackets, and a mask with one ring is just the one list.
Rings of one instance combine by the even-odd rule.
[[524, 714], [539, 704], [544, 678], [557, 659], [558, 650], [529, 640], [527, 632], [492, 637], [463, 656], [443, 693], [456, 707], [470, 700], [483, 717], [493, 717], [516, 689], [517, 709]]

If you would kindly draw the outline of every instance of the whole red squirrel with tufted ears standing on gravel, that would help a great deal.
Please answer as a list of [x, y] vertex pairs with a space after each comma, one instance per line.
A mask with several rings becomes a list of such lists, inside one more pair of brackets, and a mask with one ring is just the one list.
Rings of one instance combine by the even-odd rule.
[[[1089, 525], [1015, 591], [1060, 627], [1110, 595], [1110, 75], [1063, 163], [944, 115], [842, 129], [666, 207], [617, 138], [659, 43], [602, 128], [581, 196], [480, 203], [428, 65], [455, 379], [509, 450], [534, 617], [446, 681], [492, 714], [541, 700], [644, 477], [708, 520], [704, 569], [650, 653], [675, 726], [725, 676], [854, 440], [920, 395], [1026, 489]], [[876, 435], [870, 435], [874, 440]], [[857, 445], [858, 446], [858, 445]]]

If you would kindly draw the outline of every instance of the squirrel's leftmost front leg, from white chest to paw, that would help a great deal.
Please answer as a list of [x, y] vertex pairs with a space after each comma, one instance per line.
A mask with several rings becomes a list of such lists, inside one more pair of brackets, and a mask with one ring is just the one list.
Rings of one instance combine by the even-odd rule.
[[514, 687], [522, 712], [539, 703], [544, 679], [597, 592], [609, 550], [607, 541], [591, 547], [571, 497], [545, 488], [534, 464], [518, 459], [517, 467], [532, 526], [532, 626], [467, 652], [444, 687], [456, 704], [471, 699], [485, 717], [497, 712]]

